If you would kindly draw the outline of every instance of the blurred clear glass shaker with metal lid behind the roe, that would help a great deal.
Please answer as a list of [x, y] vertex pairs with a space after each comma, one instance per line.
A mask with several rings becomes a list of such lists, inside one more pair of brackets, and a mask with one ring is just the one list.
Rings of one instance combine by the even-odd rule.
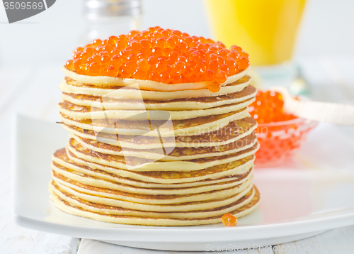
[[79, 43], [139, 30], [141, 14], [141, 0], [84, 0], [86, 29]]

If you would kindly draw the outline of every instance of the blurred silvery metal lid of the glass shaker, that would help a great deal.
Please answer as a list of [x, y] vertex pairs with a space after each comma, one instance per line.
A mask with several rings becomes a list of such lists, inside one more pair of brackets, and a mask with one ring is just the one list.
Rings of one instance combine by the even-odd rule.
[[88, 19], [139, 16], [141, 13], [141, 0], [84, 0], [84, 16]]

